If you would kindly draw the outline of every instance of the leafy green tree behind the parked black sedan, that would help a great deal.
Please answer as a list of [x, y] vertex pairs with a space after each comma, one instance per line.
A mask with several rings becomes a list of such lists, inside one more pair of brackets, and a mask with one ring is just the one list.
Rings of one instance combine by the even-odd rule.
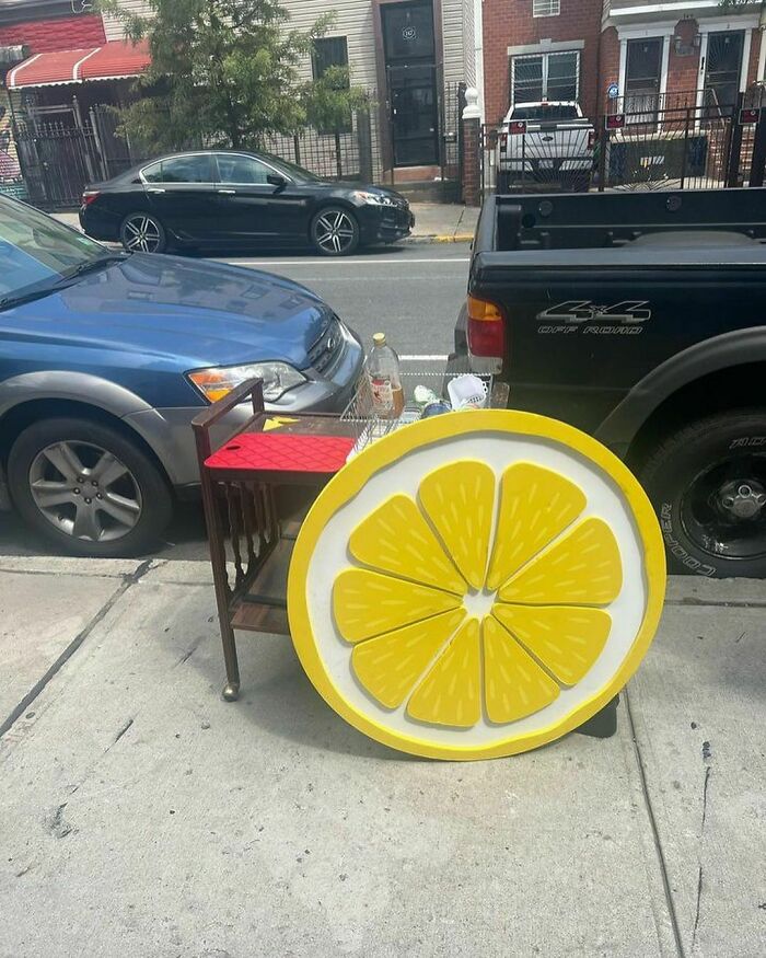
[[299, 31], [276, 0], [149, 0], [148, 15], [124, 11], [119, 0], [100, 7], [121, 18], [126, 37], [149, 43], [140, 99], [120, 118], [128, 137], [155, 149], [256, 147], [265, 134], [293, 132], [310, 116], [335, 119], [360, 102], [348, 82], [332, 88], [333, 76], [300, 82], [299, 66], [332, 14]]

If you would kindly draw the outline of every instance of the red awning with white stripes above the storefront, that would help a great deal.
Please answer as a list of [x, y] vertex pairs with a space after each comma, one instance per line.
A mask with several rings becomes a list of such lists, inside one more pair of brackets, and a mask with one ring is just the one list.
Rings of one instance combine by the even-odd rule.
[[112, 41], [102, 47], [35, 54], [8, 74], [9, 90], [26, 86], [58, 86], [90, 80], [138, 77], [151, 62], [146, 43]]

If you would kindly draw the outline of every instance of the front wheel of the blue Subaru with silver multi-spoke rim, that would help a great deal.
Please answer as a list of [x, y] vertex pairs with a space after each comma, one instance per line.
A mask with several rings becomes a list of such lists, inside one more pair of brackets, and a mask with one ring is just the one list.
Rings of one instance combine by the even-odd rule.
[[120, 429], [79, 418], [42, 419], [19, 436], [8, 460], [22, 519], [69, 555], [142, 553], [172, 515], [171, 492], [150, 455]]

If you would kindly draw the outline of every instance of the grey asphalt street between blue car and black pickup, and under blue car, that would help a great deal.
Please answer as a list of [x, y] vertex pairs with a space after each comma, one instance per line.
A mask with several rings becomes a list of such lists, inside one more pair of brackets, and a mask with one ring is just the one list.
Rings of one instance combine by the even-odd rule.
[[[465, 243], [411, 244], [362, 253], [348, 259], [314, 256], [232, 257], [222, 262], [264, 269], [313, 289], [357, 331], [365, 346], [385, 332], [403, 356], [446, 356], [465, 299], [471, 250]], [[0, 555], [47, 553], [13, 515], [0, 512]], [[183, 505], [156, 550], [163, 558], [207, 557], [201, 508]]]

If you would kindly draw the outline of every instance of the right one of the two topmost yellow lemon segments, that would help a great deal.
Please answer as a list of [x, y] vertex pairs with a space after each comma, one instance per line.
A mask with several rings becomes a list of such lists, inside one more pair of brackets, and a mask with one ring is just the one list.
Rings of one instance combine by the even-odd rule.
[[500, 480], [500, 512], [487, 588], [497, 589], [559, 535], [585, 508], [574, 483], [549, 469], [520, 462]]

